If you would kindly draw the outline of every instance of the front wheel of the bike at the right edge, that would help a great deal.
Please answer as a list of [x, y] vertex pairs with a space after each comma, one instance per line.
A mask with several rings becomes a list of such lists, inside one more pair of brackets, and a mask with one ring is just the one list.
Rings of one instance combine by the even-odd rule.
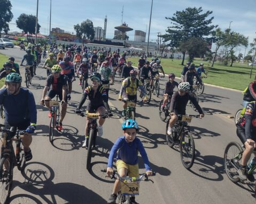
[[[232, 148], [232, 149], [230, 149]], [[239, 176], [234, 165], [239, 168], [243, 149], [237, 142], [229, 142], [224, 151], [224, 166], [228, 179], [234, 183], [239, 181]], [[229, 156], [230, 153], [230, 156]]]

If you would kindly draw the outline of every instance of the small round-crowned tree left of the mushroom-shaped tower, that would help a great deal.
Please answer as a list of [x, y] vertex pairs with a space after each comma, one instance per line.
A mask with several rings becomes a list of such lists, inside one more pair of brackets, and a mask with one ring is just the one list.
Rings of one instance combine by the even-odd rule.
[[93, 22], [89, 19], [87, 19], [86, 21], [83, 21], [81, 25], [79, 24], [74, 25], [74, 29], [76, 31], [76, 36], [79, 39], [82, 39], [83, 45], [84, 45], [85, 39], [93, 40], [95, 36], [95, 31], [93, 29]]

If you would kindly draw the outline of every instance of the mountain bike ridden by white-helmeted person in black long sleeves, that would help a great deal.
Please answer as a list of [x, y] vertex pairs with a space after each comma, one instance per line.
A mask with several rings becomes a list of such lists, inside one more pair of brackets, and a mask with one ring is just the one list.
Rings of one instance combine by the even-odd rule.
[[174, 124], [170, 135], [167, 133], [167, 130], [171, 118], [169, 118], [166, 124], [167, 145], [173, 147], [176, 143], [179, 144], [181, 162], [187, 169], [193, 166], [195, 160], [195, 142], [189, 128], [192, 117], [198, 118], [200, 115], [178, 115], [178, 121]]

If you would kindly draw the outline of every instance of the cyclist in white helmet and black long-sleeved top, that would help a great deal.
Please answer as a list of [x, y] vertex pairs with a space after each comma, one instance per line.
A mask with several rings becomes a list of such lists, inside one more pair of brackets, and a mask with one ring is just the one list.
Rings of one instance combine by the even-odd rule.
[[196, 107], [197, 111], [200, 114], [200, 117], [204, 117], [202, 108], [198, 105], [196, 98], [193, 94], [188, 92], [190, 89], [190, 84], [188, 82], [181, 82], [178, 86], [178, 91], [172, 95], [171, 105], [170, 105], [170, 123], [167, 130], [167, 134], [172, 134], [172, 127], [178, 121], [178, 115], [186, 114], [186, 106], [188, 100]]

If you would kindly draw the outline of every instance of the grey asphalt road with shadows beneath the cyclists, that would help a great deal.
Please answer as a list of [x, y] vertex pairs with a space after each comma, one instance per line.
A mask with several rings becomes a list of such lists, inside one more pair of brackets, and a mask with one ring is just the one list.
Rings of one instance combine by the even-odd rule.
[[[18, 63], [25, 54], [18, 48], [0, 52], [14, 56]], [[23, 70], [21, 73], [24, 76]], [[73, 83], [74, 91], [63, 121], [64, 130], [51, 144], [47, 137], [48, 112], [39, 105], [45, 79], [46, 70], [38, 67], [33, 86], [29, 88], [36, 99], [38, 118], [31, 145], [33, 160], [28, 162], [22, 174], [15, 168], [11, 203], [106, 203], [113, 181], [106, 178], [101, 169], [106, 167], [111, 146], [122, 135], [122, 103], [118, 101], [121, 84], [118, 81], [111, 86], [110, 106], [114, 117], [106, 120], [103, 137], [97, 138], [98, 147], [93, 152], [92, 172], [89, 173], [86, 171], [86, 150], [82, 148], [85, 118], [72, 112], [82, 96], [78, 80]], [[165, 80], [161, 81], [162, 89]], [[154, 95], [149, 105], [138, 105], [136, 110], [140, 125], [137, 137], [143, 142], [151, 168], [157, 173], [153, 177], [154, 184], [141, 182], [137, 201], [148, 204], [255, 203], [254, 184], [232, 183], [223, 168], [226, 145], [230, 141], [239, 141], [234, 119], [227, 115], [234, 115], [241, 107], [241, 92], [205, 86], [205, 94], [199, 96], [205, 117], [202, 120], [194, 118], [190, 123], [196, 145], [196, 159], [190, 171], [181, 163], [179, 148], [166, 145], [166, 123], [158, 116], [160, 100]], [[187, 113], [195, 114], [190, 107], [187, 107]], [[140, 173], [143, 172], [140, 163]]]

